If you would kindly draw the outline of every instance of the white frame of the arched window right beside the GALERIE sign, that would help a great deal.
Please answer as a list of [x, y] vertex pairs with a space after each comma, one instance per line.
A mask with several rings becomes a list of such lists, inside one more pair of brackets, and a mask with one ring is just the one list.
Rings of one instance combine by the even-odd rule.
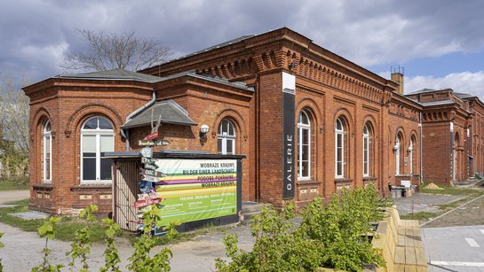
[[[302, 115], [305, 115], [307, 123], [302, 122]], [[303, 132], [307, 130], [307, 136], [303, 137]], [[307, 145], [307, 175], [303, 175], [303, 147]], [[298, 116], [298, 180], [311, 179], [311, 120], [305, 111], [301, 111]]]

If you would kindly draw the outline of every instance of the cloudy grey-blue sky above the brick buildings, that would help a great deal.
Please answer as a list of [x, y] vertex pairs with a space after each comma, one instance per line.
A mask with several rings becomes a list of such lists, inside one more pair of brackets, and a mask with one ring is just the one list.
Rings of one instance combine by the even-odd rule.
[[[67, 52], [85, 50], [75, 28], [108, 33], [133, 29], [181, 56], [285, 26], [377, 74], [402, 64], [411, 88], [445, 84], [479, 94], [484, 68], [475, 62], [484, 63], [482, 11], [480, 0], [3, 0], [0, 72], [23, 73], [32, 82], [63, 73], [59, 64]], [[459, 61], [465, 54], [476, 57]], [[455, 57], [448, 70], [421, 67], [446, 56]]]

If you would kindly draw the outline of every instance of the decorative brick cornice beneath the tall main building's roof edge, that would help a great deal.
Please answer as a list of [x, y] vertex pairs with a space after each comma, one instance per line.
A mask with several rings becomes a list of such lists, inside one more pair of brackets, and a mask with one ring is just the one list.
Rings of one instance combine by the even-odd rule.
[[[296, 65], [292, 69], [291, 63]], [[282, 69], [384, 105], [391, 97], [387, 93], [398, 87], [287, 27], [141, 72], [164, 76], [193, 69], [197, 74], [212, 74], [229, 81]]]

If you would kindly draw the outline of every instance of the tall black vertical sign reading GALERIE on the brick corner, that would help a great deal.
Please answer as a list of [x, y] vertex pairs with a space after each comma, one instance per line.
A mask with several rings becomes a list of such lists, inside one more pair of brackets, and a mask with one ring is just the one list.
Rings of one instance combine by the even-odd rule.
[[282, 72], [282, 199], [294, 198], [296, 76]]

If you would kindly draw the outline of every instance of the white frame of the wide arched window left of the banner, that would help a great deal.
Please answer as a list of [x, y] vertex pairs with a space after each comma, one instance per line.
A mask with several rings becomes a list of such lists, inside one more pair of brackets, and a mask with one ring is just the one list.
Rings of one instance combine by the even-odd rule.
[[[99, 119], [104, 119], [104, 120], [107, 120], [107, 122], [109, 122], [109, 124], [111, 125], [111, 128], [112, 129], [100, 129], [99, 128], [99, 120], [98, 120], [98, 128], [96, 129], [85, 129], [84, 126], [87, 122], [89, 122], [90, 120], [92, 119], [96, 119], [96, 118], [99, 118]], [[112, 183], [113, 182], [113, 176], [111, 174], [111, 179], [110, 180], [101, 180], [100, 179], [100, 176], [101, 176], [101, 158], [100, 158], [100, 139], [101, 139], [101, 136], [112, 136], [113, 137], [113, 147], [112, 147], [112, 150], [115, 151], [115, 130], [114, 130], [115, 126], [113, 125], [113, 123], [108, 120], [107, 118], [105, 117], [102, 117], [102, 116], [93, 116], [91, 118], [89, 118], [88, 120], [85, 120], [83, 122], [83, 126], [81, 127], [81, 173], [80, 173], [80, 176], [81, 176], [81, 183]], [[83, 136], [96, 136], [96, 179], [95, 180], [84, 180], [83, 178], [83, 170], [84, 170], [84, 167], [83, 167]]]

